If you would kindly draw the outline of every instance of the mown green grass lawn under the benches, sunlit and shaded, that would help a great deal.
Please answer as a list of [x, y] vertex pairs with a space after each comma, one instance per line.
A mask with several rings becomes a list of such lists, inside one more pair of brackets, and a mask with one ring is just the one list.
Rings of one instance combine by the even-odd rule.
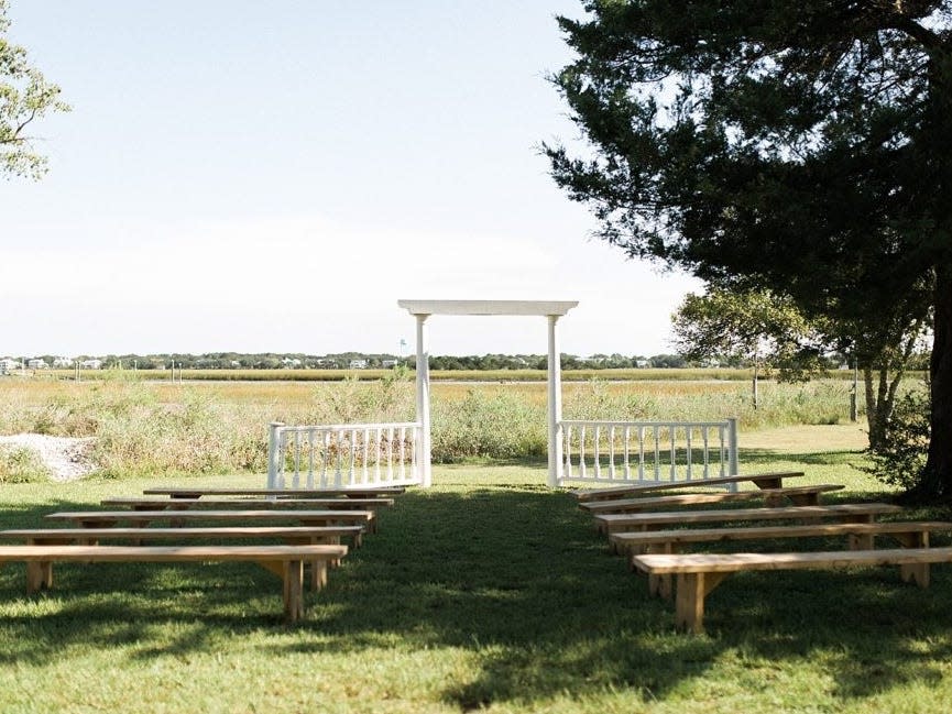
[[[886, 496], [854, 468], [852, 431], [744, 435], [742, 468], [847, 485], [830, 499]], [[0, 569], [0, 712], [944, 713], [952, 701], [950, 567], [928, 590], [895, 569], [740, 574], [690, 636], [575, 498], [545, 487], [543, 465], [437, 466], [434, 481], [381, 515], [294, 627], [273, 575], [250, 564], [64, 564], [29, 598], [23, 565]], [[4, 485], [0, 526], [149, 485]]]

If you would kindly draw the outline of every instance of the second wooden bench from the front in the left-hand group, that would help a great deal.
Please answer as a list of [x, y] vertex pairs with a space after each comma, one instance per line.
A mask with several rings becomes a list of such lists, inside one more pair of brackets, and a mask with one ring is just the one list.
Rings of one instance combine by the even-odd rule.
[[[28, 546], [96, 546], [101, 540], [129, 540], [140, 546], [153, 540], [252, 540], [275, 538], [291, 546], [339, 546], [343, 536], [359, 537], [363, 526], [250, 526], [211, 528], [31, 528], [0, 530], [0, 539], [23, 540]], [[339, 560], [330, 561], [331, 565]], [[311, 568], [311, 585], [320, 590], [322, 569]]]

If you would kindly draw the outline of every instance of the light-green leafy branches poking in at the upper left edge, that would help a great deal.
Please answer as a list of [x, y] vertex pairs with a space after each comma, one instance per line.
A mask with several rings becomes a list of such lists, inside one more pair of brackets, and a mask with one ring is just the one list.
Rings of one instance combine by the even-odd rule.
[[48, 111], [69, 111], [59, 99], [59, 87], [31, 67], [26, 51], [7, 40], [10, 20], [7, 0], [0, 0], [0, 173], [40, 178], [46, 157], [34, 149], [35, 136], [26, 133]]

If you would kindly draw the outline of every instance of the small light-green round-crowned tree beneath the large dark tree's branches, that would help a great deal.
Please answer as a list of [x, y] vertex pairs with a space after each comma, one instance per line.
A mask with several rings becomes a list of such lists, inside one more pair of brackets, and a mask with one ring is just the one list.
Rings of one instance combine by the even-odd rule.
[[758, 377], [776, 366], [799, 377], [818, 366], [822, 337], [790, 300], [770, 293], [712, 288], [689, 294], [671, 316], [678, 352], [688, 360], [727, 358], [754, 366], [754, 408], [759, 406]]

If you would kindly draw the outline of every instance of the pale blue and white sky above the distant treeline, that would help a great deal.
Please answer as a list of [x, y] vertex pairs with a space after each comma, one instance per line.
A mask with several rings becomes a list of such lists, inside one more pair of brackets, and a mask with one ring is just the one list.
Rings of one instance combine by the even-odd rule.
[[[10, 0], [73, 106], [0, 178], [0, 356], [413, 350], [398, 299], [578, 300], [577, 355], [671, 352], [692, 278], [555, 185], [577, 0]], [[434, 316], [431, 354], [544, 354], [544, 318]]]

